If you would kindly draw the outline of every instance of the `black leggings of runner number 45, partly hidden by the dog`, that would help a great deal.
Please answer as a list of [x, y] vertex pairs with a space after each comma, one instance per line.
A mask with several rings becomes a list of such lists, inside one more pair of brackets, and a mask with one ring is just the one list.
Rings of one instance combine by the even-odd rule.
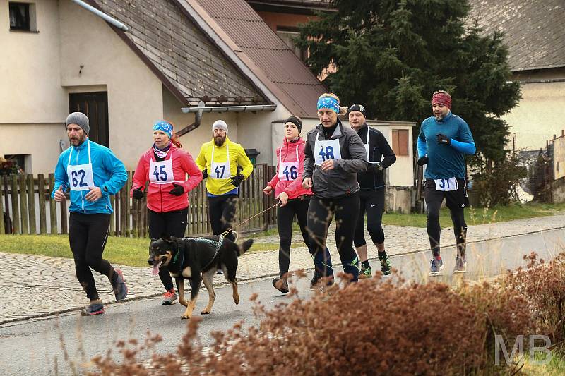
[[[186, 231], [186, 219], [188, 218], [189, 208], [174, 210], [173, 212], [153, 212], [148, 209], [149, 237], [158, 239], [162, 235], [182, 238]], [[173, 288], [172, 277], [167, 267], [161, 266], [159, 277], [166, 290]]]

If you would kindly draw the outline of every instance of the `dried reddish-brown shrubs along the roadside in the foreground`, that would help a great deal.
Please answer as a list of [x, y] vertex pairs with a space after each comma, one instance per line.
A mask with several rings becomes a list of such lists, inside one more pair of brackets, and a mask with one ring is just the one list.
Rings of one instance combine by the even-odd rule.
[[[266, 310], [259, 327], [243, 322], [198, 341], [193, 317], [176, 353], [136, 354], [158, 340], [128, 348], [124, 362], [97, 358], [103, 375], [487, 375], [514, 373], [494, 366], [494, 336], [506, 347], [517, 335], [564, 338], [565, 255], [546, 265], [530, 255], [528, 269], [492, 283], [453, 290], [445, 284], [393, 284], [372, 278], [333, 286], [308, 299]], [[252, 297], [256, 299], [256, 296]], [[147, 358], [147, 357], [145, 357]]]

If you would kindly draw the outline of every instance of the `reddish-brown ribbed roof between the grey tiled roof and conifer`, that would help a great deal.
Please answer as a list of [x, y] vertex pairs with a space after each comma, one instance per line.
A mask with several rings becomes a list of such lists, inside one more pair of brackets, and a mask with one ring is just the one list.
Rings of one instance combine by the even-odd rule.
[[[196, 0], [292, 114], [316, 114], [326, 87], [244, 0]], [[240, 54], [240, 56], [241, 56]]]

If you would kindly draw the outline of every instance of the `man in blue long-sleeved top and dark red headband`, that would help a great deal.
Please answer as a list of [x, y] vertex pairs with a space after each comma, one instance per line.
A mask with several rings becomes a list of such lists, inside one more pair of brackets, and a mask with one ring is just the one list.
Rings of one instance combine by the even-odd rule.
[[467, 186], [465, 181], [465, 154], [475, 154], [475, 141], [469, 126], [459, 116], [451, 113], [451, 95], [444, 90], [434, 92], [430, 116], [422, 122], [418, 135], [418, 165], [427, 164], [424, 174], [424, 200], [426, 200], [427, 232], [432, 248], [429, 274], [437, 275], [444, 267], [439, 254], [439, 207], [446, 199], [451, 212], [453, 232], [457, 243], [457, 257], [454, 273], [464, 273], [465, 238], [467, 224], [463, 209], [467, 207]]

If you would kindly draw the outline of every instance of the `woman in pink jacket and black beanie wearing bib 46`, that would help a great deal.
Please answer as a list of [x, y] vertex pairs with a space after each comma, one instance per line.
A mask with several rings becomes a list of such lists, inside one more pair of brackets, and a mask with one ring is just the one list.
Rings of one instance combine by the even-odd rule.
[[[279, 236], [278, 268], [279, 277], [273, 279], [273, 286], [280, 292], [288, 290], [288, 267], [290, 265], [290, 243], [292, 241], [292, 221], [296, 217], [304, 243], [308, 244], [308, 205], [312, 195], [311, 189], [302, 188], [302, 171], [304, 170], [304, 146], [300, 138], [302, 120], [290, 116], [285, 122], [285, 139], [277, 149], [277, 174], [263, 188], [268, 195], [275, 190], [275, 198], [280, 201], [277, 207], [277, 226]], [[326, 248], [325, 260], [331, 265], [331, 258]], [[326, 265], [327, 267], [327, 265]]]

